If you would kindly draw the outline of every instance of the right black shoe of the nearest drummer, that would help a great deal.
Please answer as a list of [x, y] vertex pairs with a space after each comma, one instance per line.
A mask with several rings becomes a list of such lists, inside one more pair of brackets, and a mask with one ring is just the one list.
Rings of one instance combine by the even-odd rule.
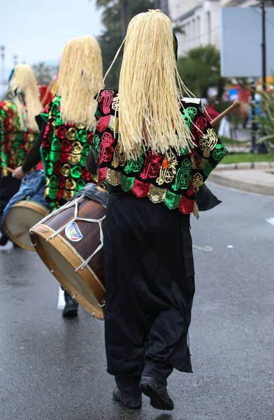
[[157, 379], [143, 376], [140, 379], [139, 388], [150, 398], [150, 405], [152, 405], [152, 407], [168, 410], [174, 408], [173, 400], [171, 400], [171, 397], [168, 395], [166, 385], [157, 381]]

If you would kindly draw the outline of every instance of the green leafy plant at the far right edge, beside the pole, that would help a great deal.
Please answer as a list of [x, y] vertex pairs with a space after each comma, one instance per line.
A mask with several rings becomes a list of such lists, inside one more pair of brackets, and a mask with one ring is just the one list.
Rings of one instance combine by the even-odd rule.
[[262, 137], [258, 143], [266, 143], [268, 148], [274, 150], [274, 99], [273, 95], [262, 92], [263, 114], [254, 118], [255, 123], [259, 126]]

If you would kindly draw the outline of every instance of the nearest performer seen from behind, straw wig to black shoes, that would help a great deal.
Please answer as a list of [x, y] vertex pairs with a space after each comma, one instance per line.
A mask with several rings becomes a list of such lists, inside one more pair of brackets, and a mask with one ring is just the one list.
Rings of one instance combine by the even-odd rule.
[[[189, 216], [226, 148], [180, 79], [171, 20], [161, 10], [129, 23], [119, 92], [101, 90], [87, 167], [108, 181], [104, 231], [106, 356], [115, 400], [173, 409], [176, 368], [192, 372], [187, 334], [194, 297]], [[188, 98], [184, 98], [185, 94]]]

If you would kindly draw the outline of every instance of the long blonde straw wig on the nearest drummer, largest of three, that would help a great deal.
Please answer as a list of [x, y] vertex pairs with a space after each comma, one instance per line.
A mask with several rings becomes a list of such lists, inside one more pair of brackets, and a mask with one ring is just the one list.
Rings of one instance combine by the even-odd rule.
[[145, 146], [163, 155], [189, 148], [192, 136], [179, 108], [182, 89], [171, 20], [161, 10], [136, 15], [127, 29], [119, 82], [119, 141], [128, 159], [138, 158]]

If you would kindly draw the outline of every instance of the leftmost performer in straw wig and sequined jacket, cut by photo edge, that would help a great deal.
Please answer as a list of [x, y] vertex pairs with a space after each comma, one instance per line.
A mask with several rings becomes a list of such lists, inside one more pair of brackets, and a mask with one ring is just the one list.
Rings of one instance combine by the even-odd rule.
[[[38, 134], [35, 116], [41, 111], [37, 81], [27, 64], [18, 64], [10, 74], [9, 98], [0, 102], [0, 225], [3, 209], [20, 187], [7, 168], [22, 165]], [[6, 235], [0, 244], [8, 241]]]

